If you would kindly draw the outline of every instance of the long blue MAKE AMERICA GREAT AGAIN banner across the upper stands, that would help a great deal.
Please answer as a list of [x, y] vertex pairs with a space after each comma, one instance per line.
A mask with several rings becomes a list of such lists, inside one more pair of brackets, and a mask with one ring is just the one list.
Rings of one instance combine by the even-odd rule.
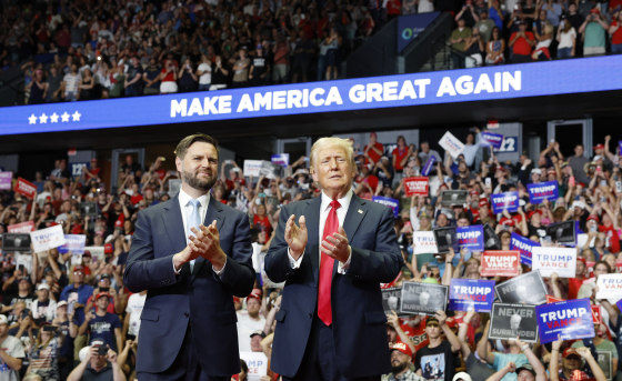
[[[7, 107], [0, 109], [0, 134], [609, 91], [622, 89], [621, 67], [622, 54], [614, 54], [337, 81]], [[572, 72], [572, 81], [568, 80], [569, 72]]]

